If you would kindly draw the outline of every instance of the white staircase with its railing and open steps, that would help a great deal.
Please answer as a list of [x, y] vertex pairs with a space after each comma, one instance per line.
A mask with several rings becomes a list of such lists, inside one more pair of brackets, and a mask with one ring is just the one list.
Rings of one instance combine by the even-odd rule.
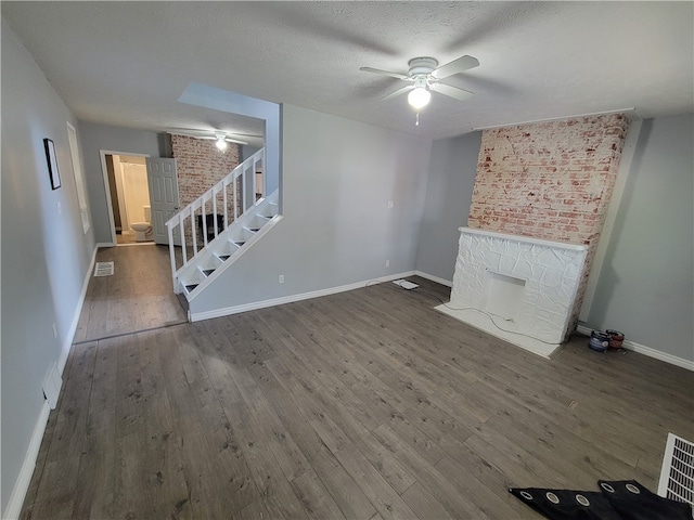
[[174, 291], [189, 302], [281, 219], [277, 191], [256, 196], [264, 162], [261, 148], [166, 222]]

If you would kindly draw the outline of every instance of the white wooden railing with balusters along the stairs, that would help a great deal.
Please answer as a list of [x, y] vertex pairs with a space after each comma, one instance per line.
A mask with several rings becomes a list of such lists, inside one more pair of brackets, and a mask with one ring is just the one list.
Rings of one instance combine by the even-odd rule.
[[[259, 170], [264, 171], [260, 186], [256, 178]], [[260, 192], [258, 187], [261, 187]], [[266, 190], [265, 148], [260, 148], [166, 222], [174, 287], [183, 268], [204, 252], [231, 223], [258, 204], [256, 194], [261, 193], [265, 197]], [[197, 240], [198, 230], [202, 244]], [[176, 246], [181, 250], [180, 265]]]

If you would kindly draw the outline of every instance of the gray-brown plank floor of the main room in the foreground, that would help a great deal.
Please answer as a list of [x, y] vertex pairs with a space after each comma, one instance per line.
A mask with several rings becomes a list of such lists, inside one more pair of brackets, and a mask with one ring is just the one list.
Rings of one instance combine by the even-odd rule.
[[507, 489], [655, 491], [694, 439], [690, 372], [547, 361], [411, 280], [76, 344], [22, 518], [539, 518]]

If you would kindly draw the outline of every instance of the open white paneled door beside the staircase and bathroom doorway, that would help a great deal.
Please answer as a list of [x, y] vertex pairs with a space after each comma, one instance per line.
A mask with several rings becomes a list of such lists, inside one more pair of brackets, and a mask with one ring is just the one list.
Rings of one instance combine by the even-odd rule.
[[176, 159], [147, 157], [146, 164], [153, 238], [156, 244], [168, 244], [169, 237], [165, 224], [178, 212], [179, 207]]

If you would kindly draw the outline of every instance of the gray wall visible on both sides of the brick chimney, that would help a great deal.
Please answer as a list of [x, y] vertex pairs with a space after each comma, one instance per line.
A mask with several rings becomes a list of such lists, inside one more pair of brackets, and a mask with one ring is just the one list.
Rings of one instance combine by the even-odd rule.
[[[587, 326], [694, 360], [694, 116], [643, 121]], [[416, 269], [451, 281], [480, 133], [435, 141]]]

